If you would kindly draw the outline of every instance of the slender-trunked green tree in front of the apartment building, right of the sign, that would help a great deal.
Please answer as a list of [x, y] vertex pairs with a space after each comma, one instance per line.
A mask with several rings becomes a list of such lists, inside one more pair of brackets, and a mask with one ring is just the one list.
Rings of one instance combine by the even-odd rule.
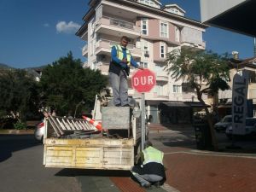
[[167, 54], [167, 72], [172, 78], [182, 79], [196, 90], [197, 98], [207, 113], [207, 122], [211, 129], [212, 146], [217, 150], [218, 143], [212, 125], [211, 114], [202, 95], [216, 96], [218, 90], [230, 89], [230, 68], [228, 55], [218, 55], [206, 50], [174, 49]]

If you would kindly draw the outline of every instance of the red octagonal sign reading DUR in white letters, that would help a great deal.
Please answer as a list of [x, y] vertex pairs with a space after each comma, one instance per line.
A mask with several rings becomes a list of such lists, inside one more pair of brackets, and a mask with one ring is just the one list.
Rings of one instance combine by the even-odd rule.
[[149, 69], [138, 70], [131, 77], [131, 86], [139, 93], [149, 92], [154, 85], [155, 74]]

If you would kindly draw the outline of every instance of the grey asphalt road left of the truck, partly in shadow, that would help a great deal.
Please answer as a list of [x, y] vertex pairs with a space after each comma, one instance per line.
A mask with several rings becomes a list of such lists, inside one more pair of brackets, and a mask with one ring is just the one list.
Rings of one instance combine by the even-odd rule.
[[0, 191], [81, 192], [72, 174], [43, 166], [43, 149], [32, 135], [0, 135]]

